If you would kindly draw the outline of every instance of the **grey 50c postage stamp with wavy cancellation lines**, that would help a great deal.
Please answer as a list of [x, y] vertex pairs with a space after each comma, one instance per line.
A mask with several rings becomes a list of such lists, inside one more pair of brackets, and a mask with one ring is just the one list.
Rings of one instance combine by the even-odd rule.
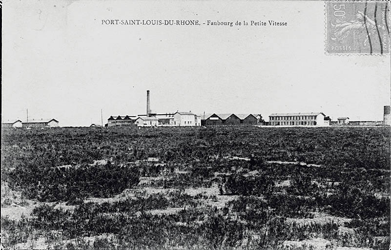
[[326, 53], [390, 53], [389, 1], [326, 1]]

